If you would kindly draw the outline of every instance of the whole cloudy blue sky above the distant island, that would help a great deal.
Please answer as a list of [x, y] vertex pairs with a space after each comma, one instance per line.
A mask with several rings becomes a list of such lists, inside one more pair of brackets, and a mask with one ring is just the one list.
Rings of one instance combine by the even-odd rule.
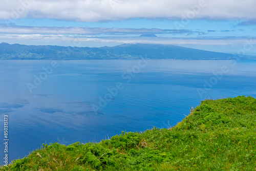
[[[256, 55], [255, 0], [0, 0], [0, 43], [165, 44]], [[140, 36], [155, 34], [157, 37]]]

